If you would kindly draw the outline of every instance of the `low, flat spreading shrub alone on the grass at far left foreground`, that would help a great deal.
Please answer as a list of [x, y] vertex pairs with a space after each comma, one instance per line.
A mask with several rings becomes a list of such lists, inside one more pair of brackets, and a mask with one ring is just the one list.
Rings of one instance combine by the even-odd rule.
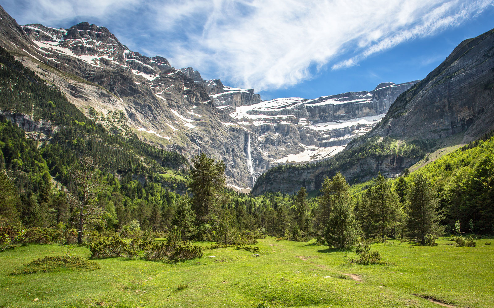
[[76, 256], [47, 256], [33, 260], [12, 274], [32, 274], [38, 272], [54, 272], [62, 270], [93, 271], [100, 266], [86, 258]]

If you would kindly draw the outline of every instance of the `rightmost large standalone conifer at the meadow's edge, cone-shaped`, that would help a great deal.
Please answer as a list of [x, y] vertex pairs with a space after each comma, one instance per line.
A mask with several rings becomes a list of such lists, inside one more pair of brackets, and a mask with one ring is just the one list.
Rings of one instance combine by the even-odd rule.
[[407, 230], [409, 236], [425, 244], [425, 237], [428, 235], [441, 236], [444, 234], [444, 227], [438, 222], [443, 218], [436, 207], [438, 199], [436, 191], [422, 173], [413, 176], [413, 183], [410, 189], [409, 202], [405, 207], [407, 213]]

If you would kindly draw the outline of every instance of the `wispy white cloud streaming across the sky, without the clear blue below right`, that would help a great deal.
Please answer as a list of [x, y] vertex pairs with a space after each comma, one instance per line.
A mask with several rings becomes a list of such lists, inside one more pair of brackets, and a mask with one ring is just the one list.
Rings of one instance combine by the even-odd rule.
[[[12, 0], [55, 23], [89, 16], [121, 27], [129, 47], [258, 91], [310, 79], [314, 69], [359, 65], [373, 54], [438, 34], [494, 0]], [[109, 18], [108, 16], [111, 16]], [[107, 26], [102, 24], [101, 26]], [[107, 26], [108, 27], [108, 26]], [[110, 27], [109, 27], [110, 28]]]

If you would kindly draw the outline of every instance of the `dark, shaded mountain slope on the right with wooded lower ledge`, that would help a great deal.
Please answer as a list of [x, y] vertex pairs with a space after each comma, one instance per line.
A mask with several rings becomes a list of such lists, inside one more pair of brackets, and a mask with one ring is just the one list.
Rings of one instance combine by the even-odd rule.
[[[378, 171], [393, 177], [418, 161], [451, 152], [494, 129], [494, 30], [461, 42], [422, 81], [402, 93], [366, 135], [328, 161], [279, 166], [261, 175], [252, 193], [318, 190], [336, 171], [350, 182]], [[425, 156], [425, 158], [424, 158]]]

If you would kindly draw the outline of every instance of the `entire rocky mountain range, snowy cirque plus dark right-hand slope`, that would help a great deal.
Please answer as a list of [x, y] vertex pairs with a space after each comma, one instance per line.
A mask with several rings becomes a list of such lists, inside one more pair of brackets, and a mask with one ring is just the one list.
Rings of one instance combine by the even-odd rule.
[[[222, 160], [227, 185], [242, 192], [314, 191], [336, 171], [349, 181], [396, 176], [494, 129], [493, 31], [462, 42], [421, 81], [262, 101], [253, 89], [131, 51], [105, 27], [19, 26], [1, 7], [0, 18], [0, 45], [87, 117], [188, 159]], [[15, 112], [1, 117], [40, 138], [53, 130]]]

